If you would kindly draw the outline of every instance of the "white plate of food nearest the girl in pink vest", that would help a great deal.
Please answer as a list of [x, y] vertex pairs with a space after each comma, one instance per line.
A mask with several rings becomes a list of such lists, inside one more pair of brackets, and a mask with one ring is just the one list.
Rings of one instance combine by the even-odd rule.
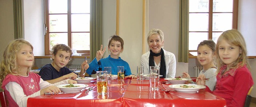
[[65, 88], [64, 86], [67, 86], [70, 84], [62, 84], [62, 85], [57, 85], [58, 88], [64, 93], [76, 93], [81, 91], [83, 88], [88, 87], [86, 84], [73, 84], [74, 86], [79, 86], [79, 87], [73, 87], [73, 88]]

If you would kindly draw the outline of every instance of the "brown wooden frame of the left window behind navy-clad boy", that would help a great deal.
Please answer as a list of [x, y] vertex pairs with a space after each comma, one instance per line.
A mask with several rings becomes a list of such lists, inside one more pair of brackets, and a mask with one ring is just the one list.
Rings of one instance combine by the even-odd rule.
[[[90, 31], [76, 32], [71, 31], [71, 0], [67, 0], [68, 2], [68, 32], [51, 32], [51, 33], [68, 33], [68, 46], [72, 49], [72, 33], [90, 33]], [[50, 33], [49, 33], [49, 0], [44, 0], [45, 3], [45, 36], [44, 36], [44, 54], [46, 56], [50, 55]], [[82, 56], [90, 56], [90, 50], [77, 50], [77, 53], [86, 53], [82, 54]]]

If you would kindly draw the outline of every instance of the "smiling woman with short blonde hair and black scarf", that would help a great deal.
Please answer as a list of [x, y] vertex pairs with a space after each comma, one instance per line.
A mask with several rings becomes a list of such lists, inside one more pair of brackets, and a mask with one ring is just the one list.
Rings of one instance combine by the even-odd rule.
[[176, 58], [171, 52], [165, 51], [164, 33], [160, 29], [148, 32], [148, 46], [150, 51], [141, 56], [140, 64], [144, 66], [144, 74], [149, 74], [149, 67], [160, 69], [162, 78], [174, 78], [176, 74]]

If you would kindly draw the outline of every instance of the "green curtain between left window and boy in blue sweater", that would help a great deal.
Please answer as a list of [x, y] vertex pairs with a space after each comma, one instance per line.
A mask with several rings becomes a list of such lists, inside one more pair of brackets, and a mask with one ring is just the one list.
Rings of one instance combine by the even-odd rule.
[[102, 0], [90, 0], [90, 60], [102, 45]]

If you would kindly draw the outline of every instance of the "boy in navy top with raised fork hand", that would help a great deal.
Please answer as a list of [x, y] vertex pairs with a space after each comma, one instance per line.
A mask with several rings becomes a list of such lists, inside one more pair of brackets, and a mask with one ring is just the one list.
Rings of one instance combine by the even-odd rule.
[[[51, 54], [52, 63], [43, 66], [39, 72], [39, 75], [44, 81], [54, 84], [68, 78], [74, 80], [78, 75], [84, 77], [84, 69], [81, 69], [81, 71], [76, 74], [65, 67], [71, 60], [72, 50], [70, 47], [65, 44], [57, 44], [52, 48]], [[87, 60], [81, 64], [81, 68], [89, 68]]]

